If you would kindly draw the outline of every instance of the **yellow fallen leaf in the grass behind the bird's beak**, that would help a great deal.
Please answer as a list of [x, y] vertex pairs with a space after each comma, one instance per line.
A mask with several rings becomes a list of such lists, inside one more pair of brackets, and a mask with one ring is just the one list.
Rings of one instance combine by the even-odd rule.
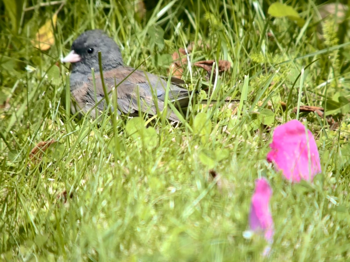
[[54, 28], [52, 28], [52, 24], [56, 27], [56, 22], [57, 13], [52, 16], [52, 23], [51, 19], [49, 19], [41, 28], [39, 28], [39, 31], [36, 33], [36, 40], [32, 41], [36, 48], [45, 51], [55, 43]]

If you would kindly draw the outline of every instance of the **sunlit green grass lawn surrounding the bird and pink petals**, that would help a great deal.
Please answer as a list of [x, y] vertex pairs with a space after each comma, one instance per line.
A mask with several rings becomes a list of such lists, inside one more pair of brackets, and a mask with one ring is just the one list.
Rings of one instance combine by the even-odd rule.
[[[308, 1], [288, 2], [305, 19], [303, 28], [269, 16], [270, 1], [165, 0], [148, 4], [143, 18], [133, 2], [94, 2], [67, 1], [48, 51], [30, 41], [59, 5], [20, 11], [14, 26], [0, 3], [0, 102], [9, 99], [0, 109], [1, 260], [350, 260], [348, 21], [333, 27], [328, 17], [327, 30], [318, 32], [319, 3]], [[164, 31], [164, 48], [147, 33], [155, 25]], [[194, 105], [187, 124], [159, 120], [137, 134], [139, 118], [119, 118], [116, 126], [107, 115], [102, 122], [77, 119], [65, 106], [69, 70], [55, 63], [92, 28], [116, 40], [126, 64], [159, 75], [168, 75], [170, 65], [159, 54], [201, 41], [191, 63], [229, 60], [212, 98], [241, 99], [239, 109]], [[184, 70], [190, 88], [201, 81], [213, 90], [205, 72], [190, 69]], [[290, 184], [266, 161], [271, 130], [295, 119], [292, 109], [302, 104], [341, 119], [330, 130], [325, 117], [299, 114], [320, 151], [314, 185]], [[52, 139], [40, 159], [30, 159], [37, 143]], [[218, 174], [214, 181], [210, 169]], [[261, 176], [273, 188], [275, 224], [265, 259], [264, 240], [243, 237]]]

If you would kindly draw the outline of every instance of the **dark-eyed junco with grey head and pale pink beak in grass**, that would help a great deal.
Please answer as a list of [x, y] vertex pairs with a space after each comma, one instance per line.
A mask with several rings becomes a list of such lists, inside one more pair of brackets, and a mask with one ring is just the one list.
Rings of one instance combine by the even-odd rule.
[[[104, 107], [105, 93], [99, 73], [98, 52], [101, 51], [103, 78], [107, 92], [113, 96], [116, 86], [118, 114], [139, 115], [139, 111], [154, 116], [164, 109], [167, 81], [157, 75], [135, 70], [124, 65], [119, 46], [101, 30], [88, 30], [81, 34], [72, 44], [72, 51], [62, 59], [63, 63], [70, 62], [70, 90], [78, 107], [87, 113], [97, 104], [101, 112]], [[95, 88], [91, 74], [95, 70]], [[169, 102], [177, 109], [187, 107], [190, 92], [181, 85], [172, 82], [169, 87]], [[101, 101], [102, 100], [102, 101]], [[99, 102], [99, 103], [98, 103]], [[167, 118], [179, 121], [179, 118], [168, 108]], [[91, 111], [93, 118], [95, 110]]]

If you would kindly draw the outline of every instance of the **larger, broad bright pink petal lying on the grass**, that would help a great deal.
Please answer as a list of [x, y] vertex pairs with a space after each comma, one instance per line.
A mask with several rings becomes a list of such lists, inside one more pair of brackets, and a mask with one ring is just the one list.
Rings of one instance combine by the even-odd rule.
[[321, 172], [320, 157], [310, 130], [297, 120], [278, 126], [273, 132], [267, 161], [282, 170], [286, 179], [312, 181]]

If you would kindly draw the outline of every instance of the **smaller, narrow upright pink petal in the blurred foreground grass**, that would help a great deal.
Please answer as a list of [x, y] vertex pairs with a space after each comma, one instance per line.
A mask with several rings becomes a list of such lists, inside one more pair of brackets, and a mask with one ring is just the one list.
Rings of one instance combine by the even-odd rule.
[[255, 180], [255, 191], [249, 214], [249, 225], [254, 232], [264, 232], [265, 239], [272, 242], [273, 220], [269, 209], [272, 189], [266, 179]]

